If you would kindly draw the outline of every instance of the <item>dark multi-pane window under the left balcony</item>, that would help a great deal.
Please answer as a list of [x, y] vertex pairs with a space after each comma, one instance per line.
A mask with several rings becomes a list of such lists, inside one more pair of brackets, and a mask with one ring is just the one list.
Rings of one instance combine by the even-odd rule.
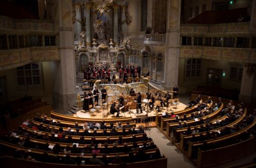
[[18, 85], [39, 85], [39, 65], [27, 64], [16, 68]]

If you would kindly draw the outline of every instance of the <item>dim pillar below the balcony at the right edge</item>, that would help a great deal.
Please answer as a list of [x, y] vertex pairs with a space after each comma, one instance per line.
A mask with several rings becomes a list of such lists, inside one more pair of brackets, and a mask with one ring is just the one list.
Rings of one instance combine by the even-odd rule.
[[256, 103], [256, 65], [245, 64], [241, 81], [239, 101], [245, 103]]

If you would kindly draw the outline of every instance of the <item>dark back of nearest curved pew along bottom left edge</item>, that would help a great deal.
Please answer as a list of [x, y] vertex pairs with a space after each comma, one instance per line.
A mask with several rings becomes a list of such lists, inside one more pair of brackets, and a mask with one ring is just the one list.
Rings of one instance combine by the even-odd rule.
[[[59, 164], [59, 163], [46, 163], [39, 161], [31, 161], [25, 159], [16, 159], [10, 156], [1, 157], [0, 163], [3, 167], [16, 168], [17, 165], [20, 167], [26, 168], [102, 168], [101, 165], [74, 165], [74, 164]], [[112, 168], [119, 168], [120, 164], [111, 165]], [[155, 167], [167, 167], [167, 158], [163, 155], [163, 158], [155, 159], [155, 160], [146, 160], [134, 163], [127, 163], [125, 167], [133, 167], [133, 168], [155, 168]]]

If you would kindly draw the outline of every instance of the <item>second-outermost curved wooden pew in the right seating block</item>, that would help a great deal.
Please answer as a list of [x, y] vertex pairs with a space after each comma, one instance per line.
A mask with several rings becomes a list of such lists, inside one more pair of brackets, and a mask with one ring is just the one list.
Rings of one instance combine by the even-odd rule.
[[[234, 132], [234, 133], [231, 133], [229, 135], [225, 135], [225, 136], [221, 136], [221, 137], [218, 137], [218, 138], [215, 138], [215, 139], [209, 139], [209, 140], [206, 140], [204, 142], [206, 143], [215, 143], [215, 144], [218, 144], [218, 143], [224, 143], [226, 141], [229, 141], [229, 139], [231, 138], [236, 138], [236, 137], [239, 137], [243, 132], [245, 131], [248, 131], [249, 129], [251, 129], [256, 123], [256, 120], [254, 120], [254, 122], [250, 125], [248, 125], [247, 127], [237, 131], [237, 132]], [[188, 156], [191, 157], [192, 156], [192, 152], [195, 148], [199, 148], [200, 146], [202, 146], [203, 143], [202, 142], [188, 142]]]

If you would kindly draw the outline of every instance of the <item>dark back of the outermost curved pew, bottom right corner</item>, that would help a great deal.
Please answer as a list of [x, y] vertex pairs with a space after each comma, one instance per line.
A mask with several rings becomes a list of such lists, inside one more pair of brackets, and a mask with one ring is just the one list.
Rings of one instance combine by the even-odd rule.
[[202, 151], [198, 149], [197, 165], [213, 167], [225, 162], [234, 161], [256, 150], [256, 137], [249, 138], [237, 144]]

